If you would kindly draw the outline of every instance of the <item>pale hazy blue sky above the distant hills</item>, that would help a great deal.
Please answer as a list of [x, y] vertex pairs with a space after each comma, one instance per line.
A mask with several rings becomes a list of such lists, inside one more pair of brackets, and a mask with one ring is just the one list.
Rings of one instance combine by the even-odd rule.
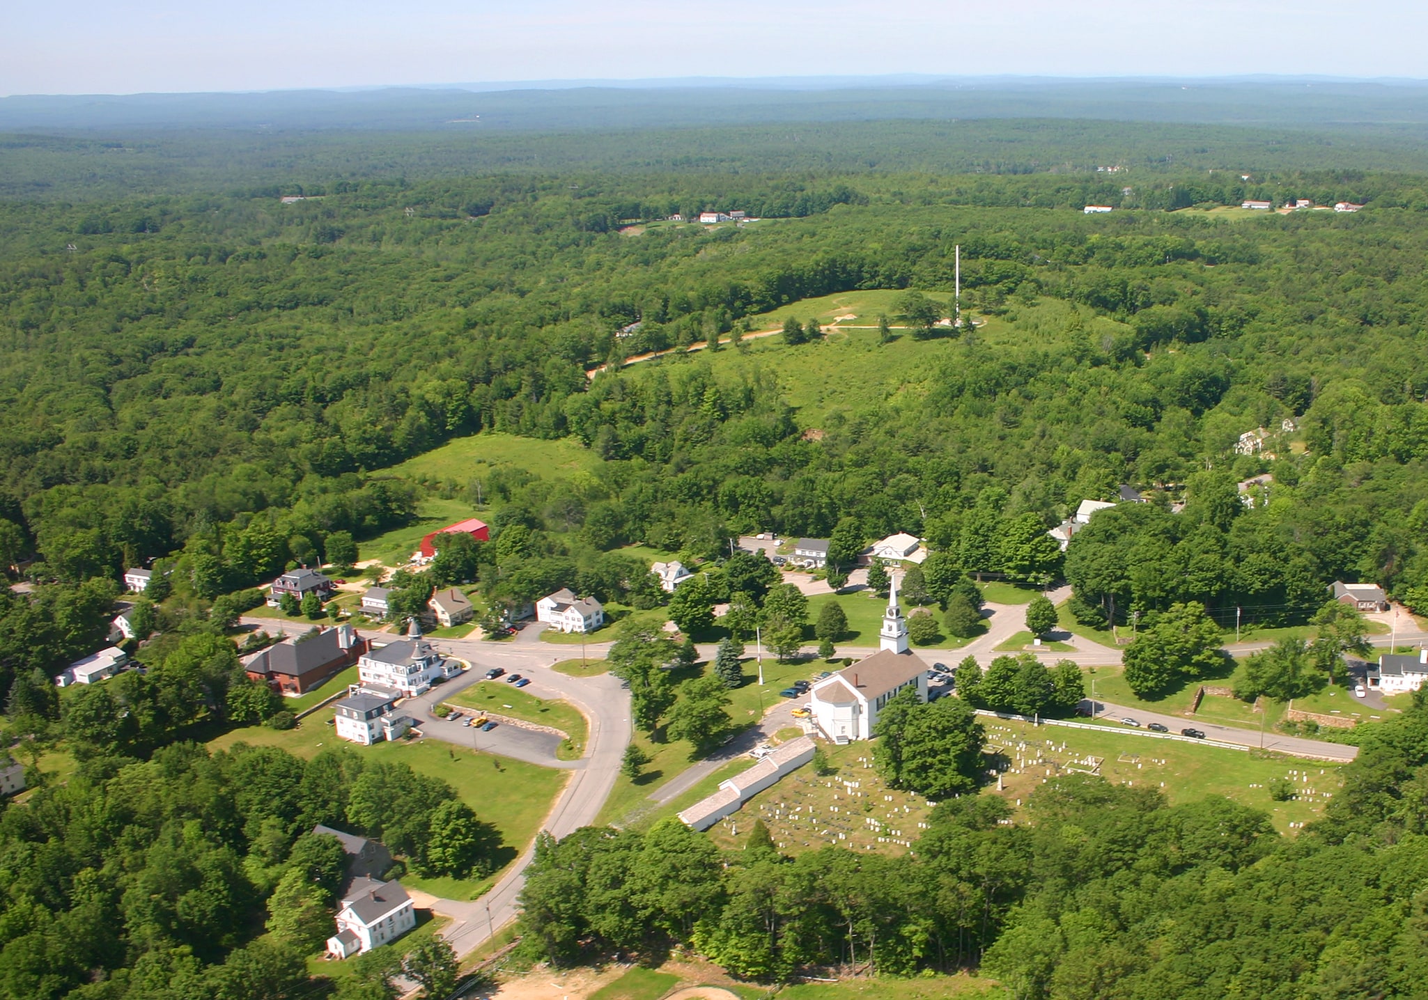
[[1422, 0], [37, 0], [0, 94], [878, 73], [1428, 77]]

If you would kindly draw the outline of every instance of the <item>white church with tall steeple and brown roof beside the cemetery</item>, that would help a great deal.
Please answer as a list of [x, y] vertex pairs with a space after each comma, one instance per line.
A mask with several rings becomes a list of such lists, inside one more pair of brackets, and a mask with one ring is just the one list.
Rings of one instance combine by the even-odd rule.
[[880, 650], [813, 686], [813, 720], [834, 743], [873, 739], [878, 711], [904, 687], [927, 701], [928, 669], [907, 646], [907, 619], [897, 603], [897, 579], [878, 633]]

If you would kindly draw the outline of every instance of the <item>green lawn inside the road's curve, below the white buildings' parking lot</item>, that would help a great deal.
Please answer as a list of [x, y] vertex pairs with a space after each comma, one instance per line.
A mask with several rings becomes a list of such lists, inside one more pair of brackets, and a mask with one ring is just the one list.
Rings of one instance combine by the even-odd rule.
[[[464, 747], [438, 743], [436, 740], [400, 740], [361, 747], [338, 740], [327, 720], [333, 709], [323, 709], [301, 721], [297, 729], [286, 731], [266, 726], [236, 729], [208, 741], [210, 750], [224, 750], [234, 743], [251, 746], [281, 747], [298, 757], [313, 757], [324, 747], [351, 747], [368, 760], [397, 760], [421, 774], [430, 774], [447, 781], [456, 789], [461, 801], [476, 814], [493, 824], [504, 844], [498, 863], [501, 867], [516, 860], [540, 830], [541, 821], [550, 813], [551, 804], [570, 777], [567, 771], [537, 767], [507, 757], [477, 753]], [[500, 871], [496, 873], [498, 876]], [[493, 879], [496, 877], [493, 876]], [[487, 880], [431, 879], [416, 876], [404, 879], [406, 884], [431, 891], [448, 899], [471, 899], [480, 893]]]

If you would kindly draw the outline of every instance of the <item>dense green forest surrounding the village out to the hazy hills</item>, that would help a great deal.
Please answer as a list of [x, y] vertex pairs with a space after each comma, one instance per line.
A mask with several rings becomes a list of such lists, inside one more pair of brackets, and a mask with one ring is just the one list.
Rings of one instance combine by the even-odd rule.
[[[1185, 163], [1154, 147], [1194, 147], [1191, 127], [1065, 123], [981, 123], [940, 150], [961, 124], [830, 126], [760, 169], [774, 127], [743, 146], [653, 133], [650, 159], [620, 170], [604, 169], [618, 137], [578, 163], [570, 136], [527, 136], [506, 147], [517, 161], [448, 150], [411, 176], [410, 136], [386, 167], [391, 136], [314, 139], [286, 167], [256, 147], [224, 167], [231, 137], [210, 137], [167, 191], [161, 164], [84, 191], [87, 157], [109, 156], [91, 137], [0, 151], [14, 176], [64, 164], [0, 201], [0, 564], [31, 584], [0, 591], [4, 731], [17, 756], [63, 740], [80, 761], [0, 806], [0, 996], [286, 996], [310, 941], [281, 937], [330, 901], [316, 869], [290, 880], [301, 899], [280, 894], [320, 853], [311, 821], [436, 863], [417, 846], [453, 811], [448, 789], [411, 783], [410, 823], [386, 830], [351, 797], [304, 791], [327, 769], [324, 787], [360, 800], [377, 771], [183, 743], [283, 714], [224, 637], [256, 586], [353, 561], [354, 540], [430, 497], [493, 507], [491, 543], [438, 564], [467, 560], [453, 581], [478, 579], [493, 606], [571, 581], [661, 600], [615, 551], [643, 541], [723, 563], [705, 603], [767, 610], [761, 569], [725, 561], [730, 534], [857, 551], [905, 530], [932, 549], [912, 603], [948, 611], [968, 573], [1065, 579], [1084, 623], [1134, 616], [1151, 633], [1200, 607], [1221, 624], [1304, 621], [1335, 579], [1428, 607], [1419, 153], [1261, 134], [1254, 163], [1254, 143], [1231, 143], [1248, 133], [1205, 129], [1214, 151]], [[863, 166], [820, 151], [850, 134], [917, 141]], [[1251, 197], [1367, 207], [1234, 207]], [[667, 221], [704, 209], [760, 221]], [[940, 326], [957, 246], [964, 324]], [[918, 294], [888, 299], [883, 331], [805, 326], [800, 303], [858, 290]], [[790, 307], [787, 324], [760, 319]], [[1259, 427], [1264, 449], [1235, 454]], [[590, 471], [393, 471], [483, 431], [568, 439]], [[1262, 473], [1268, 489], [1237, 486]], [[1151, 503], [1098, 514], [1064, 557], [1048, 547], [1047, 529], [1122, 483]], [[156, 570], [141, 607], [163, 633], [137, 650], [149, 670], [56, 691], [53, 674], [104, 641], [137, 563]], [[693, 603], [671, 613], [703, 620]], [[541, 844], [533, 940], [561, 960], [693, 943], [757, 979], [984, 961], [1028, 997], [1409, 996], [1425, 711], [1365, 741], [1348, 794], [1292, 843], [1231, 803], [1094, 783], [1048, 784], [1018, 826], [948, 800], [898, 860], [785, 861], [767, 844], [721, 859], [680, 827], [583, 831]], [[250, 786], [276, 790], [258, 801]], [[263, 936], [284, 899], [298, 916]]]

